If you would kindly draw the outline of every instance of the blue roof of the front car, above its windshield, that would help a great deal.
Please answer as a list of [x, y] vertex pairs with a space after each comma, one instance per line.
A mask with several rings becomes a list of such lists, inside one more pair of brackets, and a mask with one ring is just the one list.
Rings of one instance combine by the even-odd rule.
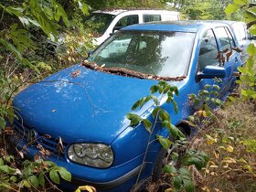
[[151, 22], [144, 24], [137, 24], [133, 26], [123, 27], [121, 30], [155, 30], [155, 31], [180, 31], [196, 33], [205, 27], [220, 27], [226, 26], [224, 23], [212, 21], [197, 21], [197, 20], [183, 20], [183, 21], [165, 21], [165, 22]]

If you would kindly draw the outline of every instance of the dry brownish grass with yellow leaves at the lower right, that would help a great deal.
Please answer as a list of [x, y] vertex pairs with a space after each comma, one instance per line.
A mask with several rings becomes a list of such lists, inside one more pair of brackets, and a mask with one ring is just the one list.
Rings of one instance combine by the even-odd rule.
[[197, 191], [256, 191], [256, 112], [250, 102], [235, 102], [217, 113], [217, 121], [193, 138], [191, 147], [210, 156], [193, 171]]

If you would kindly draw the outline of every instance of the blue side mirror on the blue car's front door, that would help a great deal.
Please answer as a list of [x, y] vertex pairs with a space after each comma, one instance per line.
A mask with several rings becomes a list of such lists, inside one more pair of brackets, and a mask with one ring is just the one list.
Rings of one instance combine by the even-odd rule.
[[202, 72], [197, 73], [196, 80], [224, 78], [226, 76], [226, 69], [218, 66], [206, 66]]

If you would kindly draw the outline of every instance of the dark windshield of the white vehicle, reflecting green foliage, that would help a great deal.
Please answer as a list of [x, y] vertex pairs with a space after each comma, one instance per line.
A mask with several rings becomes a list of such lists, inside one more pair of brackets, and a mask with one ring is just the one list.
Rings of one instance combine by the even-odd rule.
[[102, 35], [111, 24], [113, 18], [114, 16], [110, 14], [92, 13], [86, 20], [85, 26]]

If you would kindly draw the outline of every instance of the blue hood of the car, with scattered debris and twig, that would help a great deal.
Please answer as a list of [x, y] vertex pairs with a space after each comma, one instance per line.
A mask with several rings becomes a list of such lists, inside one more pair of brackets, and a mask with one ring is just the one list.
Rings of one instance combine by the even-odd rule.
[[75, 65], [21, 91], [14, 106], [39, 133], [66, 143], [111, 144], [128, 126], [133, 103], [156, 83]]

